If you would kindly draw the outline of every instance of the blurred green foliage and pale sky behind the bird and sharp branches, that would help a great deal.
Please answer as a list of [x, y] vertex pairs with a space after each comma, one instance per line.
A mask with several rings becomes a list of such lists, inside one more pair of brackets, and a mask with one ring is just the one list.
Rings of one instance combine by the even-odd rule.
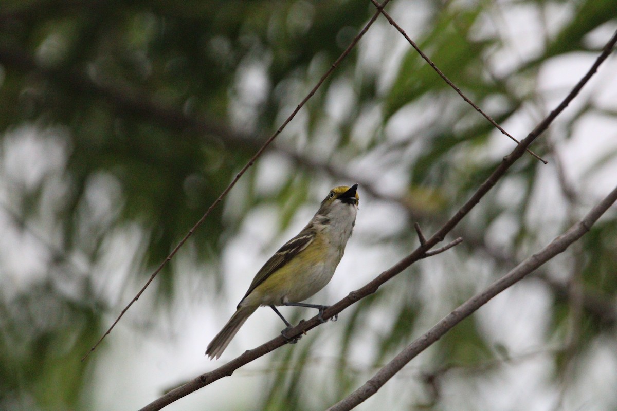
[[[614, 0], [392, 1], [445, 75], [523, 138], [617, 30]], [[2, 0], [0, 409], [135, 410], [270, 340], [205, 347], [334, 185], [360, 184], [333, 303], [433, 234], [514, 143], [383, 17], [114, 331], [80, 362], [368, 22], [368, 1]], [[617, 182], [617, 59], [414, 264], [294, 345], [169, 410], [322, 410]], [[617, 408], [617, 213], [458, 325], [358, 409]], [[299, 321], [315, 313], [283, 309]]]

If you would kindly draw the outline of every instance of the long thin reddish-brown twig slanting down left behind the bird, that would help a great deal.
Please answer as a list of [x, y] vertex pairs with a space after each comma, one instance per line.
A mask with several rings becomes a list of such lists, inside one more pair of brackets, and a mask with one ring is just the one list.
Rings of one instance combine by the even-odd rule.
[[[388, 2], [389, 0], [386, 0], [384, 2], [384, 5]], [[383, 6], [382, 6], [383, 7]], [[283, 121], [283, 124], [281, 124], [281, 126], [275, 131], [274, 134], [272, 134], [272, 136], [270, 136], [270, 138], [268, 138], [266, 140], [265, 143], [263, 143], [262, 147], [260, 147], [259, 150], [257, 150], [257, 153], [255, 153], [255, 155], [253, 157], [251, 157], [251, 160], [249, 160], [246, 165], [244, 165], [244, 167], [242, 167], [242, 169], [239, 171], [238, 174], [236, 174], [236, 177], [234, 177], [234, 179], [230, 182], [230, 184], [226, 187], [225, 190], [223, 190], [222, 193], [220, 193], [220, 195], [218, 196], [218, 198], [212, 203], [212, 205], [210, 205], [210, 207], [208, 208], [207, 211], [205, 211], [205, 214], [202, 216], [202, 218], [199, 219], [199, 221], [197, 221], [197, 223], [193, 226], [193, 228], [191, 228], [191, 230], [189, 230], [189, 232], [184, 236], [184, 238], [182, 238], [182, 240], [180, 240], [180, 243], [178, 243], [178, 245], [176, 245], [176, 247], [172, 250], [172, 252], [167, 256], [167, 258], [165, 258], [165, 260], [160, 264], [160, 266], [152, 273], [152, 275], [150, 276], [150, 278], [147, 280], [146, 284], [144, 284], [144, 286], [141, 288], [141, 290], [139, 290], [139, 292], [137, 293], [137, 295], [131, 299], [130, 303], [128, 303], [128, 305], [126, 307], [124, 307], [124, 309], [122, 310], [122, 312], [120, 312], [120, 315], [118, 315], [118, 318], [114, 321], [114, 324], [111, 325], [111, 327], [109, 327], [109, 329], [107, 330], [107, 332], [105, 332], [101, 338], [99, 339], [99, 341], [97, 341], [96, 344], [94, 344], [93, 348], [90, 349], [90, 351], [88, 351], [88, 353], [81, 359], [82, 361], [85, 360], [91, 352], [93, 352], [97, 346], [99, 346], [99, 344], [101, 344], [101, 341], [103, 341], [103, 339], [111, 332], [111, 330], [115, 327], [116, 324], [118, 324], [118, 321], [120, 321], [120, 319], [122, 318], [122, 316], [124, 315], [124, 313], [133, 305], [133, 303], [135, 303], [135, 301], [137, 301], [139, 299], [139, 297], [142, 295], [142, 293], [146, 290], [146, 288], [148, 287], [148, 285], [150, 285], [150, 283], [152, 282], [152, 280], [154, 280], [154, 277], [156, 277], [157, 274], [159, 274], [159, 272], [163, 269], [163, 267], [165, 266], [165, 264], [167, 264], [168, 261], [170, 261], [173, 256], [175, 256], [175, 254], [178, 252], [178, 250], [180, 250], [180, 247], [184, 245], [184, 243], [186, 242], [186, 240], [189, 239], [189, 237], [191, 237], [191, 235], [193, 235], [193, 232], [197, 229], [197, 227], [201, 226], [201, 224], [205, 221], [205, 219], [207, 218], [207, 216], [210, 214], [210, 211], [213, 210], [213, 208], [215, 208], [215, 206], [218, 205], [218, 203], [220, 203], [223, 198], [225, 198], [225, 196], [227, 195], [228, 192], [230, 192], [230, 190], [233, 188], [234, 185], [236, 185], [236, 182], [238, 182], [238, 180], [240, 179], [240, 177], [242, 177], [242, 174], [246, 173], [247, 169], [249, 169], [249, 167], [251, 167], [253, 165], [253, 163], [255, 163], [255, 161], [257, 160], [257, 158], [260, 157], [260, 155], [262, 155], [262, 153], [265, 151], [265, 149], [267, 149], [268, 145], [270, 145], [270, 143], [279, 135], [281, 134], [281, 131], [283, 131], [283, 129], [285, 128], [285, 126], [287, 126], [287, 124], [289, 123], [289, 121], [291, 121], [296, 114], [300, 111], [300, 108], [302, 108], [307, 101], [309, 101], [309, 99], [313, 96], [313, 94], [315, 94], [315, 92], [317, 91], [317, 89], [319, 87], [321, 87], [321, 84], [323, 84], [323, 82], [326, 80], [326, 78], [328, 78], [328, 76], [334, 71], [334, 69], [337, 67], [337, 65], [339, 65], [339, 63], [341, 63], [342, 59], [344, 59], [345, 57], [347, 57], [347, 55], [349, 54], [350, 51], [352, 51], [352, 49], [355, 47], [355, 45], [358, 43], [358, 41], [360, 40], [360, 38], [362, 38], [362, 36], [366, 33], [366, 30], [368, 30], [368, 28], [373, 24], [373, 22], [375, 22], [376, 18], [379, 15], [379, 10], [375, 13], [375, 15], [373, 16], [373, 18], [371, 18], [371, 20], [366, 23], [366, 25], [364, 26], [364, 28], [362, 29], [362, 31], [360, 31], [360, 33], [358, 33], [357, 36], [354, 37], [354, 39], [351, 41], [351, 43], [349, 44], [349, 46], [347, 46], [347, 49], [345, 49], [344, 52], [342, 52], [342, 54], [339, 56], [338, 59], [336, 59], [336, 61], [328, 68], [328, 70], [326, 71], [326, 73], [324, 73], [323, 76], [321, 76], [321, 78], [319, 79], [319, 81], [317, 82], [317, 84], [315, 84], [315, 86], [313, 87], [313, 89], [309, 92], [309, 94], [307, 94], [306, 97], [304, 97], [304, 99], [302, 100], [302, 102], [300, 102], [300, 104], [297, 105], [296, 109], [288, 116], [288, 118]]]

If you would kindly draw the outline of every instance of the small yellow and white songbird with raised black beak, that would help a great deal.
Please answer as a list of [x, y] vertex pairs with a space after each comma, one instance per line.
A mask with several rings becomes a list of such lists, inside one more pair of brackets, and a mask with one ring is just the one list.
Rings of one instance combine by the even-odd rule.
[[[347, 240], [355, 226], [360, 196], [358, 184], [341, 185], [329, 191], [315, 216], [296, 237], [291, 238], [271, 256], [255, 274], [249, 289], [225, 327], [208, 344], [205, 355], [218, 359], [244, 322], [260, 306], [269, 306], [287, 326], [292, 325], [276, 306], [310, 307], [319, 310], [318, 318], [328, 306], [301, 303], [328, 284], [339, 265]], [[336, 319], [336, 317], [335, 317]], [[289, 339], [295, 343], [297, 339]]]

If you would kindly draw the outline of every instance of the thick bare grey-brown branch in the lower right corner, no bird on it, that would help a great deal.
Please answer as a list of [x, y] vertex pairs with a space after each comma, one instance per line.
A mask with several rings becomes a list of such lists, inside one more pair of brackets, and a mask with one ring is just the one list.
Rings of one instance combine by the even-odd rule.
[[528, 259], [524, 260], [518, 266], [516, 266], [508, 274], [504, 275], [499, 280], [495, 281], [486, 290], [468, 299], [465, 303], [461, 304], [454, 311], [450, 312], [444, 319], [439, 321], [433, 328], [420, 336], [420, 338], [413, 341], [403, 351], [394, 357], [386, 366], [381, 368], [378, 373], [366, 381], [366, 383], [358, 388], [354, 393], [350, 394], [342, 401], [333, 405], [328, 411], [344, 411], [351, 410], [356, 405], [365, 401], [368, 397], [377, 392], [381, 386], [383, 386], [387, 380], [392, 378], [397, 372], [401, 370], [408, 362], [415, 358], [420, 352], [428, 348], [435, 341], [439, 340], [445, 333], [451, 330], [455, 325], [461, 322], [463, 319], [469, 317], [473, 312], [477, 311], [481, 306], [486, 304], [494, 296], [505, 290], [511, 285], [524, 279], [528, 274], [531, 274], [538, 267], [542, 266], [545, 262], [549, 261], [557, 254], [563, 253], [569, 245], [576, 242], [594, 225], [602, 214], [604, 214], [608, 208], [617, 201], [617, 187], [613, 189], [607, 197], [604, 198], [597, 206], [578, 223], [570, 227], [564, 234], [561, 234], [549, 245], [545, 246], [538, 253], [533, 254]]

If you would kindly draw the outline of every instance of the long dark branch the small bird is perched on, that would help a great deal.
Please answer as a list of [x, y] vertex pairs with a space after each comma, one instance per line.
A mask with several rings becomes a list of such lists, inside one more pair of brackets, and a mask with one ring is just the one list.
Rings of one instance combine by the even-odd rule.
[[[497, 181], [499, 181], [499, 179], [503, 177], [503, 175], [508, 170], [508, 168], [510, 168], [510, 166], [513, 165], [513, 163], [515, 163], [515, 161], [518, 160], [518, 158], [523, 156], [527, 146], [531, 144], [534, 140], [536, 140], [537, 137], [540, 134], [542, 134], [542, 132], [544, 132], [545, 129], [549, 127], [552, 121], [555, 120], [555, 118], [561, 112], [563, 112], [563, 110], [568, 106], [569, 102], [571, 102], [574, 99], [574, 97], [578, 95], [582, 87], [594, 75], [595, 71], [597, 71], [597, 68], [600, 66], [600, 64], [602, 64], [602, 62], [607, 59], [608, 55], [610, 55], [610, 52], [613, 49], [613, 46], [615, 46], [615, 43], [617, 43], [617, 32], [610, 39], [610, 41], [608, 41], [607, 45], [604, 47], [602, 54], [598, 56], [598, 58], [596, 59], [592, 67], [589, 69], [587, 74], [583, 76], [583, 78], [579, 81], [579, 83], [576, 84], [576, 86], [573, 87], [572, 91], [569, 92], [568, 96], [566, 96], [565, 99], [563, 99], [561, 104], [558, 105], [557, 108], [555, 108], [555, 110], [550, 112], [549, 116], [544, 118], [544, 120], [542, 120], [536, 126], [536, 128], [534, 128], [533, 131], [530, 132], [528, 136], [525, 137], [521, 141], [521, 143], [517, 145], [516, 148], [509, 155], [503, 158], [502, 163], [500, 163], [500, 165], [497, 166], [497, 168], [495, 169], [495, 171], [493, 171], [491, 176], [489, 176], [486, 179], [486, 181], [484, 181], [480, 185], [478, 190], [476, 190], [476, 192], [471, 196], [471, 198], [466, 201], [466, 203], [460, 208], [460, 210], [458, 210], [458, 212], [449, 221], [445, 222], [444, 226], [442, 226], [441, 229], [439, 229], [436, 232], [436, 234], [433, 235], [433, 237], [426, 240], [426, 243], [424, 245], [421, 245], [420, 247], [416, 248], [416, 250], [414, 250], [407, 257], [397, 262], [397, 264], [394, 264], [394, 266], [392, 266], [391, 268], [379, 274], [378, 277], [373, 279], [371, 282], [366, 284], [364, 287], [358, 288], [358, 290], [350, 292], [349, 295], [347, 295], [345, 298], [341, 299], [340, 301], [333, 304], [332, 306], [329, 306], [328, 309], [326, 309], [323, 312], [322, 314], [323, 318], [327, 319], [327, 318], [334, 317], [334, 315], [339, 314], [344, 309], [354, 304], [356, 301], [375, 293], [378, 290], [378, 288], [383, 283], [385, 283], [387, 280], [392, 279], [392, 277], [402, 272], [404, 269], [406, 269], [411, 264], [413, 264], [413, 262], [416, 262], [419, 259], [424, 258], [426, 251], [429, 251], [431, 248], [433, 248], [434, 245], [442, 241], [445, 235], [447, 235], [454, 227], [457, 226], [458, 222], [460, 222], [466, 216], [466, 214], [468, 214], [471, 211], [471, 209], [476, 204], [478, 204], [481, 198], [484, 197], [484, 195], [487, 192], [489, 192], [489, 190], [491, 190], [491, 188], [497, 183]], [[309, 319], [304, 322], [300, 322], [300, 324], [296, 325], [296, 327], [292, 328], [291, 330], [287, 332], [288, 337], [293, 338], [294, 336], [298, 336], [320, 325], [321, 321], [317, 317], [318, 316], [315, 315], [315, 317], [313, 317], [312, 319]], [[220, 378], [223, 378], [224, 376], [231, 375], [235, 370], [237, 370], [242, 365], [247, 364], [251, 362], [252, 360], [257, 359], [261, 356], [264, 356], [268, 352], [273, 351], [276, 348], [279, 348], [280, 346], [283, 346], [286, 343], [287, 343], [286, 338], [284, 338], [283, 336], [278, 336], [276, 338], [273, 338], [273, 340], [270, 340], [267, 343], [260, 345], [257, 348], [245, 351], [244, 354], [242, 354], [239, 357], [236, 357], [235, 359], [231, 360], [227, 364], [224, 364], [221, 367], [218, 367], [217, 369], [209, 373], [204, 373], [200, 376], [197, 376], [196, 378], [184, 384], [183, 386], [173, 389], [172, 391], [160, 397], [159, 399], [151, 402], [151, 404], [146, 405], [146, 407], [143, 407], [143, 409], [141, 409], [140, 411], [160, 410], [166, 405], [172, 404], [172, 402], [177, 401], [181, 397], [184, 397], [190, 393], [193, 393], [194, 391], [197, 391], [197, 389], [203, 388], [204, 386], [209, 385], [210, 383]]]

